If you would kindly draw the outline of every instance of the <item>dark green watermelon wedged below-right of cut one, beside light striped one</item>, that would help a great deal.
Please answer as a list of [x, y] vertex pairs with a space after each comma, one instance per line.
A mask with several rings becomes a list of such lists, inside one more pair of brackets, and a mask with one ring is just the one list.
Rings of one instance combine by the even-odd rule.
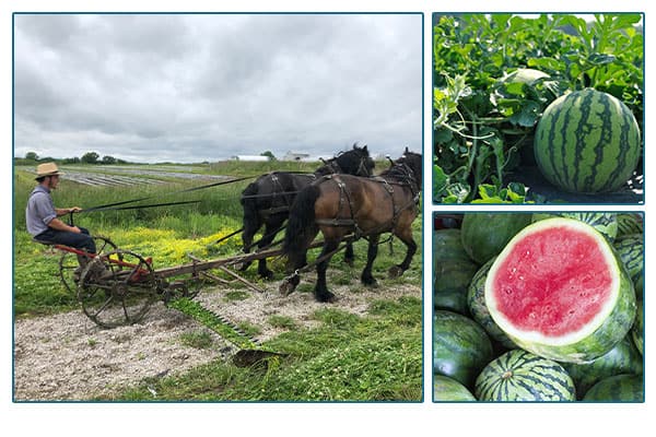
[[563, 367], [574, 380], [579, 398], [601, 379], [616, 375], [640, 375], [643, 373], [643, 359], [635, 349], [633, 340], [626, 335], [609, 353], [591, 363], [564, 363]]

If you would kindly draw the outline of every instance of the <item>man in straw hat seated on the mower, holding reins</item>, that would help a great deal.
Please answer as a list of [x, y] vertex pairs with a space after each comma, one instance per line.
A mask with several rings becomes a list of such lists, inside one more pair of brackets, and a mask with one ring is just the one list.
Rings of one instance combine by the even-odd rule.
[[[79, 226], [69, 226], [58, 218], [71, 212], [82, 211], [79, 206], [55, 208], [50, 191], [57, 188], [61, 175], [63, 173], [59, 172], [55, 163], [39, 164], [36, 167], [35, 180], [38, 185], [30, 193], [25, 209], [27, 232], [37, 241], [65, 245], [95, 253], [95, 243], [89, 235], [89, 231]], [[87, 259], [79, 256], [78, 260], [83, 267]]]

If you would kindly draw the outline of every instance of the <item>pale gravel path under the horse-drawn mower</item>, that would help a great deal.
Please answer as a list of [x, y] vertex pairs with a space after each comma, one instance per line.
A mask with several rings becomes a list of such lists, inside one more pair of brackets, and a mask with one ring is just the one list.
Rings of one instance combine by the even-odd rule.
[[[315, 321], [311, 315], [326, 306], [307, 293], [282, 297], [273, 285], [270, 288], [262, 294], [249, 293], [248, 298], [237, 302], [225, 299], [226, 290], [203, 291], [197, 299], [234, 322], [258, 326], [262, 341], [282, 332], [267, 322], [270, 316], [292, 317], [298, 326], [312, 327]], [[333, 292], [339, 296], [333, 307], [359, 315], [377, 298], [421, 297], [419, 286], [358, 292], [336, 286]], [[154, 305], [141, 323], [112, 330], [98, 329], [82, 311], [16, 320], [14, 400], [91, 400], [119, 392], [143, 378], [184, 373], [235, 352], [214, 333], [210, 349], [196, 349], [180, 341], [180, 334], [201, 330], [204, 328], [162, 304]]]

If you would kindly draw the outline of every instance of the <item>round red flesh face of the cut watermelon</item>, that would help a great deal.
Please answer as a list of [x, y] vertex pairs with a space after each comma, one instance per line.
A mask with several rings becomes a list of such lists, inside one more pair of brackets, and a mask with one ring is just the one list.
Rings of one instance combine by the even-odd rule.
[[517, 243], [494, 276], [494, 297], [516, 328], [560, 338], [593, 321], [612, 285], [595, 239], [560, 226]]

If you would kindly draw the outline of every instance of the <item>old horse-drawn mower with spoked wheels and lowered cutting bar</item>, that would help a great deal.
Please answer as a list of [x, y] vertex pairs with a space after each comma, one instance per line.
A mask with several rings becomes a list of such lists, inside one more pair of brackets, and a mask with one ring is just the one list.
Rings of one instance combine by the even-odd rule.
[[[77, 295], [82, 311], [97, 326], [116, 328], [138, 323], [153, 304], [162, 302], [167, 307], [192, 317], [237, 346], [238, 352], [233, 358], [235, 364], [247, 365], [280, 355], [263, 349], [257, 339], [244, 333], [225, 317], [192, 300], [209, 281], [230, 283], [211, 273], [211, 270], [224, 272], [254, 291], [263, 292], [231, 268], [261, 257], [277, 257], [281, 253], [280, 249], [214, 260], [200, 260], [189, 256], [189, 263], [154, 269], [151, 257], [120, 249], [103, 236], [93, 238], [97, 253], [87, 253], [63, 245], [51, 246], [62, 253], [59, 259], [62, 284]], [[79, 259], [83, 260], [83, 269], [79, 268]]]

